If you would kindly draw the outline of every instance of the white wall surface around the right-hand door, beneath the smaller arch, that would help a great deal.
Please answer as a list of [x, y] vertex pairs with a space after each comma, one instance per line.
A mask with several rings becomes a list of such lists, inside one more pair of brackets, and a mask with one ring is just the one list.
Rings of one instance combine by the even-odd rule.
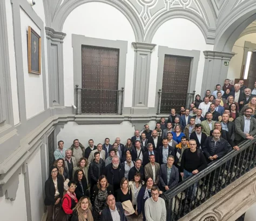
[[173, 18], [162, 24], [154, 34], [152, 44], [157, 44], [152, 52], [150, 69], [149, 107], [154, 107], [156, 97], [156, 81], [158, 68], [158, 46], [167, 46], [174, 49], [198, 50], [196, 94], [201, 92], [205, 57], [203, 51], [213, 50], [213, 45], [207, 45], [199, 27], [185, 18]]

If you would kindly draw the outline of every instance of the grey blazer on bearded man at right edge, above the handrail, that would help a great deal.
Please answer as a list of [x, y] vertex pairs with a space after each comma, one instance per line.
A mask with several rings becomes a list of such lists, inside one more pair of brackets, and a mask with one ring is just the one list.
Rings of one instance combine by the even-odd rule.
[[[245, 128], [245, 118], [244, 116], [239, 116], [235, 119], [235, 140], [239, 141], [241, 138], [246, 139], [246, 134], [244, 134]], [[256, 119], [251, 118], [250, 124], [250, 135], [254, 136], [256, 134]]]

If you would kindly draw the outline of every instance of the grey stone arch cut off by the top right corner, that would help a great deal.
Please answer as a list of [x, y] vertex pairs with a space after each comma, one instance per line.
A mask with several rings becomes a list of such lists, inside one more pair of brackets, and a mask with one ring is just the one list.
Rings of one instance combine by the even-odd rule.
[[256, 2], [250, 1], [249, 3], [240, 4], [220, 22], [216, 31], [215, 51], [231, 52], [240, 34], [256, 20]]

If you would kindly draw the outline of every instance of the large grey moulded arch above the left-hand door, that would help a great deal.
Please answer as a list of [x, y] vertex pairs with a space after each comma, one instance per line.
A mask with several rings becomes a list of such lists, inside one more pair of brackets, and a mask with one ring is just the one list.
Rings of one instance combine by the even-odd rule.
[[60, 7], [57, 9], [55, 16], [52, 19], [52, 28], [55, 31], [62, 31], [64, 22], [69, 14], [76, 9], [78, 6], [90, 3], [90, 2], [100, 2], [113, 6], [117, 10], [123, 13], [123, 15], [129, 20], [132, 29], [134, 31], [134, 35], [137, 42], [143, 42], [143, 26], [139, 21], [136, 13], [126, 6], [123, 1], [114, 1], [114, 0], [73, 0], [73, 1], [65, 1]]

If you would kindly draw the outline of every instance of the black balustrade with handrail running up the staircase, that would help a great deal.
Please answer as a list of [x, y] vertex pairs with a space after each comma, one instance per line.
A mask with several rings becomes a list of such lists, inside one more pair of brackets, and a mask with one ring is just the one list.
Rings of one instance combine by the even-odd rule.
[[238, 151], [230, 151], [219, 160], [208, 164], [208, 167], [198, 174], [164, 192], [162, 197], [167, 207], [166, 220], [178, 220], [185, 216], [219, 190], [254, 168], [256, 166], [255, 139], [256, 135], [253, 140], [241, 142]]

